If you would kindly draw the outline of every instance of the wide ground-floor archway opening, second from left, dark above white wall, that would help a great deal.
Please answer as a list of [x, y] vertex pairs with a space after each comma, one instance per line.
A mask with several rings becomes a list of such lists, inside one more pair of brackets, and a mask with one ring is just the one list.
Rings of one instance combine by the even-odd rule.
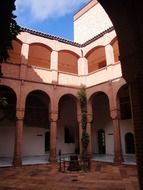
[[28, 94], [24, 116], [23, 156], [40, 156], [49, 151], [49, 109], [50, 99], [45, 92], [35, 90]]

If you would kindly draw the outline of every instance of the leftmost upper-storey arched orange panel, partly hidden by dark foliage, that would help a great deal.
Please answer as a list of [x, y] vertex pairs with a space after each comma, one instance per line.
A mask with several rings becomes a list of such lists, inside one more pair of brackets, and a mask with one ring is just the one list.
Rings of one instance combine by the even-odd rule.
[[9, 50], [9, 58], [7, 62], [21, 64], [21, 48], [22, 42], [19, 39], [12, 41], [13, 49]]

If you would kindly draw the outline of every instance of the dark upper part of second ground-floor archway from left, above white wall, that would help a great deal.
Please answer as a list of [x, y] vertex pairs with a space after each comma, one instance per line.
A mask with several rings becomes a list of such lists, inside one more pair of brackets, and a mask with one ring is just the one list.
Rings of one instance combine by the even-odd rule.
[[[24, 123], [26, 126], [50, 128], [50, 98], [42, 90], [33, 90], [26, 96]], [[49, 116], [49, 117], [48, 117]]]

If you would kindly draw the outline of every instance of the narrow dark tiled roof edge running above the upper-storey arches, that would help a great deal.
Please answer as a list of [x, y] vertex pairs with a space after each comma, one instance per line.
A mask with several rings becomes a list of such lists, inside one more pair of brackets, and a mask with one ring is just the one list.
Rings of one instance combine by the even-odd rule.
[[76, 43], [76, 42], [73, 42], [73, 41], [70, 41], [70, 40], [67, 40], [67, 39], [64, 39], [64, 38], [60, 38], [60, 37], [49, 35], [49, 34], [46, 34], [46, 33], [43, 33], [43, 32], [38, 32], [38, 31], [35, 31], [35, 30], [31, 30], [31, 29], [28, 29], [28, 28], [21, 27], [22, 32], [28, 32], [30, 34], [37, 35], [37, 36], [40, 36], [40, 37], [43, 37], [43, 38], [48, 38], [48, 39], [51, 39], [51, 40], [57, 40], [59, 42], [63, 42], [63, 43], [73, 45], [73, 46], [76, 46], [76, 47], [85, 47], [85, 46], [89, 45], [90, 43], [92, 43], [93, 41], [101, 38], [104, 34], [106, 34], [108, 32], [111, 32], [112, 30], [114, 30], [113, 26], [106, 29], [102, 33], [94, 36], [93, 38], [86, 41], [85, 43], [79, 44], [79, 43]]

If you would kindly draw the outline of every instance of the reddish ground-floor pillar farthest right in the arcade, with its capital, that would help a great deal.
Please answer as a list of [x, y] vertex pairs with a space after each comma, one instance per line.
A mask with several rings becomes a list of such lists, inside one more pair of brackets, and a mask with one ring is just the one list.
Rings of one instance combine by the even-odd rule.
[[122, 156], [120, 119], [119, 119], [118, 109], [114, 109], [111, 111], [111, 118], [113, 123], [113, 134], [114, 134], [114, 162], [120, 164], [121, 162], [123, 162], [123, 156]]

